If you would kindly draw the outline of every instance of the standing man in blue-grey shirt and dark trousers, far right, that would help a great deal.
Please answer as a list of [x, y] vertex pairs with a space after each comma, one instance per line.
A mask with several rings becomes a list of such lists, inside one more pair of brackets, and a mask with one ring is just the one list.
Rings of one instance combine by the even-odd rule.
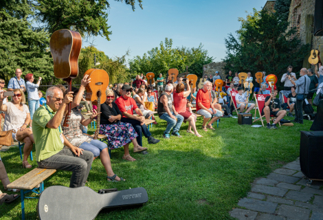
[[307, 76], [307, 69], [300, 69], [300, 78], [296, 79], [296, 76], [288, 76], [289, 80], [293, 85], [296, 85], [296, 108], [295, 108], [295, 120], [293, 122], [303, 124], [303, 102], [305, 98], [307, 98], [307, 94], [309, 94], [309, 85], [311, 80], [309, 76]]

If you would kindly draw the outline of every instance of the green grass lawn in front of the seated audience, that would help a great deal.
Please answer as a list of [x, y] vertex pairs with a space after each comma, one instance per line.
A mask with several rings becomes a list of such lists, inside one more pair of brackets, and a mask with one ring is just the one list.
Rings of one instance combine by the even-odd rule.
[[[309, 131], [312, 124], [304, 120], [304, 124], [269, 130], [238, 125], [237, 119], [223, 118], [219, 128], [205, 133], [199, 118], [202, 138], [186, 133], [188, 124], [182, 124], [182, 138], [171, 136], [170, 140], [164, 140], [166, 122], [159, 118], [157, 122], [151, 133], [161, 142], [148, 145], [144, 138], [148, 155], [131, 153], [137, 161], [127, 162], [121, 158], [122, 148], [112, 151], [113, 170], [126, 179], [124, 183], [107, 182], [100, 159], [93, 162], [87, 183], [96, 191], [144, 187], [148, 203], [140, 208], [105, 209], [96, 219], [230, 219], [228, 212], [247, 195], [254, 179], [265, 177], [298, 157], [300, 131]], [[34, 151], [33, 154], [36, 158]], [[1, 158], [11, 181], [29, 171], [22, 168], [17, 147], [1, 152]], [[33, 168], [37, 166], [35, 161], [30, 164]], [[70, 177], [71, 173], [58, 171], [45, 181], [45, 188], [69, 186]], [[37, 201], [25, 199], [26, 219], [37, 218]], [[0, 206], [0, 219], [21, 219], [20, 201]]]

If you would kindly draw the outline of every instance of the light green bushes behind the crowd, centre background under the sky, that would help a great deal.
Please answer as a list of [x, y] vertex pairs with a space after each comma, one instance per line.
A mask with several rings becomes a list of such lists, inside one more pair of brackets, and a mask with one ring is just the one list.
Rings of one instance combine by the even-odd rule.
[[146, 74], [147, 72], [163, 74], [166, 76], [168, 69], [175, 68], [179, 73], [188, 72], [202, 76], [203, 65], [212, 63], [213, 58], [208, 56], [208, 51], [203, 49], [203, 45], [194, 48], [178, 47], [172, 48], [172, 39], [166, 38], [161, 41], [159, 47], [145, 53], [142, 57], [135, 56], [129, 61], [132, 77], [136, 74]]

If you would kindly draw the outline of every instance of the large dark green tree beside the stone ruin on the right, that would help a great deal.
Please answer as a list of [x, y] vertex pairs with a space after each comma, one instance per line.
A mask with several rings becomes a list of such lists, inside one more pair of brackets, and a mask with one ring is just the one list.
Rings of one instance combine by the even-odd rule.
[[280, 78], [292, 65], [294, 71], [302, 67], [309, 45], [302, 45], [296, 30], [287, 30], [289, 23], [262, 10], [259, 19], [246, 23], [241, 39], [232, 34], [225, 39], [227, 56], [225, 69], [234, 72], [258, 72], [275, 74]]

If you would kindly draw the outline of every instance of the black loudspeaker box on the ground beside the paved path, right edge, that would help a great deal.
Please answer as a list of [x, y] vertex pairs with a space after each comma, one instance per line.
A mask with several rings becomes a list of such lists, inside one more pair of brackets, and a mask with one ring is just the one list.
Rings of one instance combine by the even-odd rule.
[[323, 131], [300, 131], [300, 170], [309, 179], [323, 180]]

